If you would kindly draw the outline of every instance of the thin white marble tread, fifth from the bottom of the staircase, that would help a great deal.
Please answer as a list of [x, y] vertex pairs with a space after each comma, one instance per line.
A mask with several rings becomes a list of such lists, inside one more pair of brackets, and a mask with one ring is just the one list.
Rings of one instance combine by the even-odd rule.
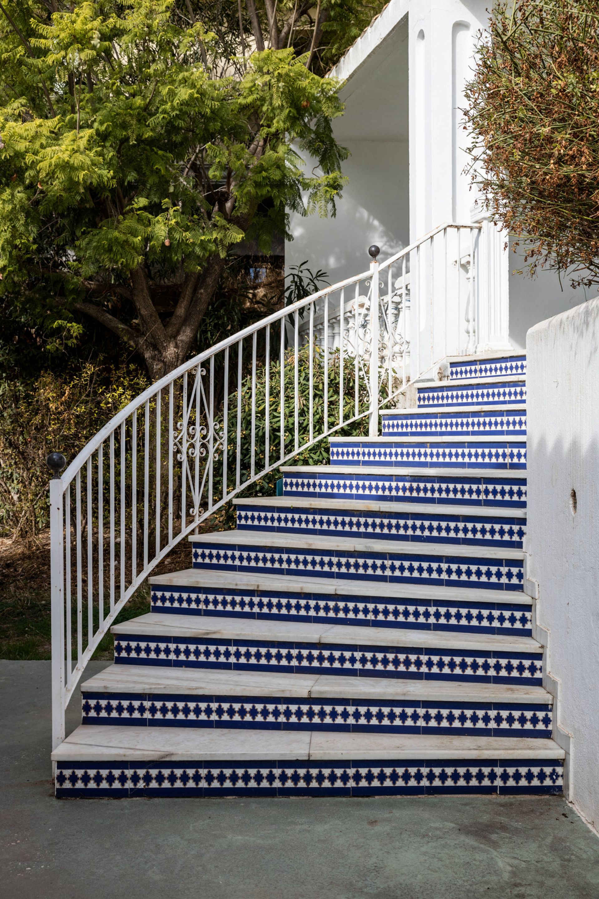
[[217, 530], [211, 534], [191, 534], [195, 544], [223, 544], [238, 547], [284, 547], [286, 549], [340, 550], [354, 553], [395, 553], [397, 555], [448, 556], [472, 559], [523, 559], [522, 549], [513, 547], [471, 547], [462, 543], [406, 543], [405, 540], [370, 540], [354, 537], [327, 537], [271, 534], [269, 531]]

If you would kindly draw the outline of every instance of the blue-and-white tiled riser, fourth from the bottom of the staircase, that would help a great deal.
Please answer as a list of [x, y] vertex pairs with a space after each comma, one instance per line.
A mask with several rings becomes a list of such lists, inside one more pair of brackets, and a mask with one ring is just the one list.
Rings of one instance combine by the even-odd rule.
[[418, 628], [531, 636], [530, 607], [508, 602], [377, 599], [330, 593], [152, 588], [152, 611], [225, 618], [305, 621], [375, 628]]

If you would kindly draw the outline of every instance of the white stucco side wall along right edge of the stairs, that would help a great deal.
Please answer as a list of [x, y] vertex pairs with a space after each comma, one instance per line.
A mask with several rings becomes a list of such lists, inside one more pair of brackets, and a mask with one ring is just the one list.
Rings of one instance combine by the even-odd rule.
[[[569, 798], [599, 825], [599, 298], [535, 325], [528, 354], [527, 576], [538, 582]], [[573, 513], [570, 492], [577, 494]], [[544, 640], [543, 640], [544, 642]]]

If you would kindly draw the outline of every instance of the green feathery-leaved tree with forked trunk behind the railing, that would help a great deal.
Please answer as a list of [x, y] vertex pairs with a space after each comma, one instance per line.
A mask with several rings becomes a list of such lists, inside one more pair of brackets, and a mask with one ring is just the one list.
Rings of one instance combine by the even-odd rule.
[[234, 245], [268, 252], [290, 209], [334, 214], [343, 107], [313, 69], [356, 24], [343, 4], [278, 5], [0, 2], [4, 303], [72, 341], [92, 319], [159, 378], [192, 352]]

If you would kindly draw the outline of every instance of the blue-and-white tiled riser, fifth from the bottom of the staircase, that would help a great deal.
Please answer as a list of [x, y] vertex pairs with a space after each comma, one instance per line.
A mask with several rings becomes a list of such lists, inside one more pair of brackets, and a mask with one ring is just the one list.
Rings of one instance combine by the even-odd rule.
[[[482, 553], [481, 549], [481, 553]], [[405, 552], [360, 553], [326, 549], [265, 549], [200, 543], [193, 549], [193, 567], [211, 571], [303, 574], [362, 580], [365, 583], [427, 583], [446, 587], [522, 590], [522, 559], [419, 556]]]

